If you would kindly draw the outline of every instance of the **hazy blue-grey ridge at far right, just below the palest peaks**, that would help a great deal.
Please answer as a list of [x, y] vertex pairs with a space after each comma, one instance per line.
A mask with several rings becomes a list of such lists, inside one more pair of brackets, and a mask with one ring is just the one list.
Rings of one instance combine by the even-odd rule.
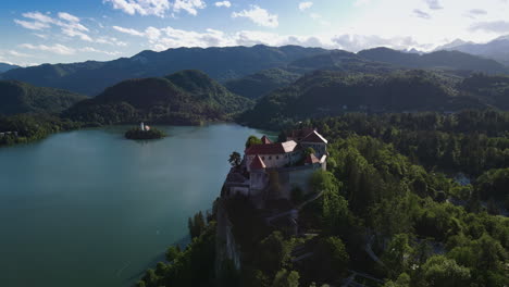
[[375, 48], [360, 51], [359, 57], [377, 62], [385, 62], [407, 68], [426, 70], [464, 70], [487, 74], [507, 74], [509, 68], [495, 60], [483, 59], [459, 51], [436, 51], [425, 54], [406, 53], [388, 48]]

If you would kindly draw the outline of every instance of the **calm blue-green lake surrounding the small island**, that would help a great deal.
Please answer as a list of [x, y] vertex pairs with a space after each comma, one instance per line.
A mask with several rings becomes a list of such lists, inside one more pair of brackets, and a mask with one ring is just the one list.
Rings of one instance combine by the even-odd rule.
[[161, 126], [169, 137], [132, 141], [127, 128], [0, 148], [1, 286], [131, 286], [188, 240], [187, 219], [220, 195], [229, 153], [261, 136]]

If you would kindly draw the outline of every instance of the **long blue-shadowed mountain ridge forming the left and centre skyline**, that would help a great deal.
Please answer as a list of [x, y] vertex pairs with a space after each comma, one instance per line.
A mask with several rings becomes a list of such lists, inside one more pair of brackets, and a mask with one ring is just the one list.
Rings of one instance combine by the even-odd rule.
[[144, 51], [132, 58], [109, 62], [44, 64], [8, 71], [1, 77], [96, 96], [104, 88], [125, 79], [160, 77], [189, 68], [203, 71], [212, 78], [225, 82], [325, 51], [297, 46], [178, 48], [162, 52]]

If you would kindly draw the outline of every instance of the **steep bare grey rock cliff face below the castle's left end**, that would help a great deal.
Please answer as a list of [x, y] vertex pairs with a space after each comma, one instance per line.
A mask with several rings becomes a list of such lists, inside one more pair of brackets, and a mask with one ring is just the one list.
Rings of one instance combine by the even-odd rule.
[[233, 262], [236, 270], [240, 270], [240, 249], [235, 241], [232, 233], [232, 222], [228, 219], [228, 213], [224, 207], [224, 199], [218, 200], [218, 228], [215, 237], [215, 272], [220, 273], [220, 269], [225, 260]]

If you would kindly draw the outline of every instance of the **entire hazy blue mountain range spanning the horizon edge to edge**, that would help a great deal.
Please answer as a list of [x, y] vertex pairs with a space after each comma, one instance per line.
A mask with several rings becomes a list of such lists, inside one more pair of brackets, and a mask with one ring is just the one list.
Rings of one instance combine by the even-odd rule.
[[[178, 48], [162, 52], [144, 51], [132, 58], [109, 62], [88, 61], [73, 64], [44, 64], [15, 68], [0, 75], [3, 79], [16, 79], [36, 86], [54, 87], [78, 93], [96, 96], [107, 87], [129, 78], [161, 77], [182, 70], [200, 70], [215, 80], [226, 83], [246, 76], [245, 83], [256, 82], [269, 86], [281, 86], [288, 74], [263, 72], [272, 77], [269, 82], [257, 75], [264, 70], [280, 68], [290, 74], [303, 75], [315, 70], [334, 70], [360, 73], [387, 73], [400, 68], [438, 68], [447, 71], [477, 71], [488, 74], [509, 73], [500, 63], [476, 55], [456, 51], [438, 51], [429, 54], [408, 53], [377, 48], [351, 53], [321, 48], [284, 47], [226, 47], [226, 48]], [[274, 75], [277, 78], [274, 78]], [[253, 78], [254, 77], [254, 78]], [[261, 80], [261, 82], [260, 82]], [[275, 83], [271, 83], [275, 80]], [[228, 83], [233, 87], [235, 83]], [[238, 85], [237, 85], [238, 86]], [[266, 89], [245, 92], [248, 97], [260, 97]], [[256, 93], [256, 95], [254, 95]]]

